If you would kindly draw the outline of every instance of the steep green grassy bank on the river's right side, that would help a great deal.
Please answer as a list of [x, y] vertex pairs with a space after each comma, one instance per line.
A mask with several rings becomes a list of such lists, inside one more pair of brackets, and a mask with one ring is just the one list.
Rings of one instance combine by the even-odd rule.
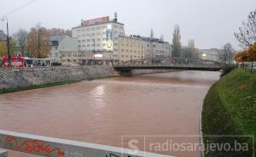
[[[247, 142], [249, 151], [212, 151], [206, 157], [252, 156], [253, 137], [206, 137], [209, 135], [256, 136], [256, 73], [232, 70], [207, 93], [202, 109], [204, 143]], [[234, 143], [233, 143], [234, 144]]]

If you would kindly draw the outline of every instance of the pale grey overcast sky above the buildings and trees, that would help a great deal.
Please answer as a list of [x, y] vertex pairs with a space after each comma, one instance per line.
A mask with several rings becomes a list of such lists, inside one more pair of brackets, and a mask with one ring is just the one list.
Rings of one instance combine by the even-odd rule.
[[[0, 17], [31, 0], [1, 0]], [[47, 28], [71, 29], [80, 21], [118, 13], [126, 35], [164, 35], [172, 42], [174, 25], [180, 26], [182, 44], [195, 40], [196, 48], [221, 48], [238, 42], [234, 31], [256, 8], [256, 0], [36, 0], [8, 14], [10, 34], [19, 28], [27, 31], [38, 22]], [[5, 31], [1, 21], [0, 29]]]

